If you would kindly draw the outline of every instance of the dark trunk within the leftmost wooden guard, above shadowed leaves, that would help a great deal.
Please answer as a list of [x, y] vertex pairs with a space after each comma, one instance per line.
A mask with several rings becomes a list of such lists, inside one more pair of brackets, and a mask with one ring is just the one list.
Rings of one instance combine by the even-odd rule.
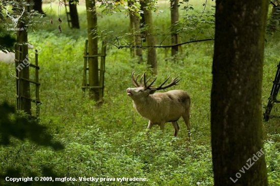
[[[27, 1], [27, 3], [29, 3]], [[25, 6], [25, 12], [28, 12], [30, 11], [30, 7], [29, 6]], [[26, 13], [23, 13], [22, 17], [20, 17], [18, 23], [17, 23], [17, 28], [19, 28], [19, 30], [17, 31], [17, 42], [18, 43], [27, 43], [27, 27], [25, 26], [25, 22], [28, 22], [27, 21], [27, 15]], [[22, 28], [24, 28], [22, 30]], [[23, 64], [23, 60], [24, 63], [26, 64], [28, 60], [27, 57], [25, 57], [26, 55], [28, 55], [28, 48], [27, 48], [27, 45], [23, 45], [22, 46], [22, 52], [23, 54], [20, 54], [20, 58], [18, 60], [20, 60], [20, 63]], [[30, 61], [29, 61], [30, 62]], [[31, 112], [31, 100], [30, 100], [30, 82], [29, 81], [26, 81], [24, 79], [27, 79], [29, 80], [29, 65], [23, 65], [23, 68], [20, 70], [20, 92], [21, 92], [21, 97], [19, 98], [20, 99], [20, 103], [19, 103], [19, 110], [23, 110], [25, 113], [31, 115], [32, 112]], [[22, 79], [24, 78], [24, 79]]]

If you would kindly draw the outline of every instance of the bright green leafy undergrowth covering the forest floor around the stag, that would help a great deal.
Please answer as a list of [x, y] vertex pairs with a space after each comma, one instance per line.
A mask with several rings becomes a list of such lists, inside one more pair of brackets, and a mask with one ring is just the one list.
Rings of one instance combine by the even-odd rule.
[[[100, 21], [100, 24], [109, 27], [106, 22]], [[138, 64], [129, 49], [107, 45], [103, 104], [97, 107], [89, 100], [88, 92], [81, 90], [86, 32], [63, 28], [65, 32], [61, 34], [50, 27], [36, 30], [29, 35], [29, 40], [35, 47], [42, 48], [39, 52], [40, 124], [48, 127], [48, 132], [55, 141], [65, 145], [65, 150], [53, 151], [30, 141], [12, 139], [12, 146], [0, 147], [0, 172], [12, 167], [19, 168], [21, 176], [28, 176], [28, 171], [41, 173], [43, 167], [49, 167], [60, 177], [76, 179], [84, 176], [147, 179], [143, 182], [66, 181], [67, 185], [213, 185], [210, 143], [213, 41], [184, 45], [175, 58], [170, 57], [170, 51], [166, 54], [165, 49], [157, 49], [155, 84], [169, 75], [179, 75], [180, 84], [173, 89], [184, 89], [191, 97], [190, 143], [182, 119], [176, 138], [170, 123], [166, 124], [163, 134], [156, 126], [151, 131], [146, 130], [148, 121], [133, 109], [126, 88], [132, 86], [130, 75], [133, 71], [143, 73], [150, 69], [145, 64]], [[268, 36], [267, 41], [263, 107], [274, 80], [280, 47], [277, 34]], [[14, 66], [0, 64], [0, 69], [0, 99], [16, 105], [15, 79], [9, 76]], [[33, 96], [34, 89], [32, 86]], [[272, 115], [280, 115], [278, 108], [275, 104]], [[263, 122], [269, 185], [273, 186], [280, 185], [279, 123], [277, 117]]]

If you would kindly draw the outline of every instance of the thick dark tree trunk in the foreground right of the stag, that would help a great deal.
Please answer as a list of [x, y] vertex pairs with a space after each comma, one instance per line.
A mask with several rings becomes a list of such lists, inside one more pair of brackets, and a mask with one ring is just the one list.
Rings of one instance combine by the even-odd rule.
[[216, 1], [211, 92], [215, 186], [268, 185], [261, 103], [268, 3]]

